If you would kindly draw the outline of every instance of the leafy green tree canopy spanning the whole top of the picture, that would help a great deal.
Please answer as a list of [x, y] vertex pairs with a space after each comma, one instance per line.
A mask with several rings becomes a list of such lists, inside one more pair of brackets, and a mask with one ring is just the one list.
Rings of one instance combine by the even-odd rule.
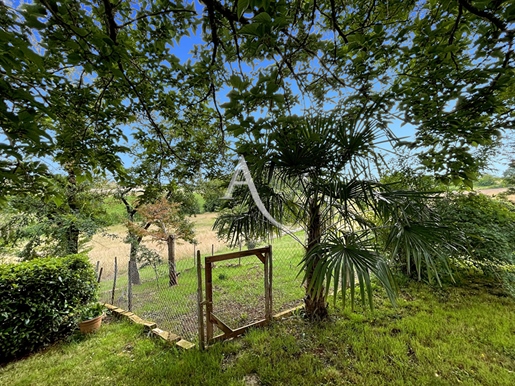
[[[429, 170], [468, 183], [485, 162], [481, 150], [514, 124], [511, 1], [35, 0], [0, 8], [4, 194], [45, 175], [40, 159], [59, 151], [57, 135], [87, 133], [80, 151], [88, 168], [122, 175], [119, 138], [128, 132], [197, 167], [201, 135], [222, 148], [226, 132], [269, 130], [278, 116], [370, 103], [384, 125], [415, 127], [406, 145], [422, 149]], [[64, 117], [69, 127], [57, 134]]]

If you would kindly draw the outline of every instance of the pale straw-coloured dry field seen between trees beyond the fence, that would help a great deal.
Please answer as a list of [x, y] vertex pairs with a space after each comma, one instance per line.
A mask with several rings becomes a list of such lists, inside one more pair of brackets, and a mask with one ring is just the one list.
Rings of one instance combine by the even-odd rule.
[[[195, 239], [197, 246], [182, 240], [176, 242], [176, 257], [178, 260], [185, 258], [194, 258], [194, 251], [200, 249], [205, 253], [210, 253], [213, 249], [217, 252], [225, 248], [225, 244], [218, 240], [216, 233], [212, 230], [216, 213], [203, 213], [191, 217], [195, 223]], [[93, 264], [100, 262], [99, 266], [103, 268], [102, 278], [109, 279], [114, 272], [114, 257], [118, 259], [118, 272], [127, 272], [129, 261], [129, 244], [123, 242], [127, 234], [124, 225], [115, 225], [109, 227], [103, 234], [97, 234], [88, 243], [88, 256]], [[150, 249], [156, 250], [163, 259], [166, 259], [166, 245], [164, 243], [156, 243], [150, 239], [144, 239], [143, 244]]]

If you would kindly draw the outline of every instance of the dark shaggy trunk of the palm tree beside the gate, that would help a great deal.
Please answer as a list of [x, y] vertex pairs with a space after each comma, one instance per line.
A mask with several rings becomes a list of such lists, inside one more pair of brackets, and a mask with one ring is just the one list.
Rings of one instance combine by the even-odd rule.
[[[320, 205], [316, 198], [309, 201], [309, 228], [308, 228], [308, 248], [306, 252], [310, 252], [315, 246], [320, 244], [322, 235], [322, 224], [320, 218]], [[304, 304], [306, 308], [306, 316], [309, 319], [321, 320], [328, 316], [327, 302], [324, 291], [320, 291], [317, 295], [315, 289], [309, 288], [309, 284], [313, 281], [315, 268], [320, 263], [320, 259], [314, 260], [313, 265], [308, 267], [306, 275], [306, 296]]]

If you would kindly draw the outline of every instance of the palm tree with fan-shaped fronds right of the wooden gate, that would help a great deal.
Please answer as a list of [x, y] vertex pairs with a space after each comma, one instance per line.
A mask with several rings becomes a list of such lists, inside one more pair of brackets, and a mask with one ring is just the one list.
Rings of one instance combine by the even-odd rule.
[[[307, 235], [307, 316], [326, 317], [327, 296], [340, 288], [344, 301], [350, 288], [353, 305], [359, 288], [362, 301], [368, 298], [372, 306], [372, 275], [394, 301], [390, 266], [399, 257], [419, 277], [426, 271], [439, 280], [440, 269], [448, 269], [441, 253], [448, 247], [444, 228], [427, 204], [434, 194], [396, 190], [377, 180], [379, 146], [394, 137], [370, 110], [284, 118], [255, 134], [255, 142], [241, 142], [239, 149], [260, 198], [277, 221], [300, 226]], [[233, 244], [279, 232], [243, 189], [238, 205], [219, 216], [215, 228]]]

